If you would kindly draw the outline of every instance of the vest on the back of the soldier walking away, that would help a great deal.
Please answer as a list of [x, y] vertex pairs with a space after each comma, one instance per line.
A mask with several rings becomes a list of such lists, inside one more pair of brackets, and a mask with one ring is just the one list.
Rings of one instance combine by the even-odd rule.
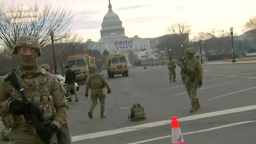
[[100, 74], [91, 74], [89, 79], [89, 87], [91, 89], [97, 89], [97, 88], [104, 88], [105, 85], [103, 84], [102, 78]]

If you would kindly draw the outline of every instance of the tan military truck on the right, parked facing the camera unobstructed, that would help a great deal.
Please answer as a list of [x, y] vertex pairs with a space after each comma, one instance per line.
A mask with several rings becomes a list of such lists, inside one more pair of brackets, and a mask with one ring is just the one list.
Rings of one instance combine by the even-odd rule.
[[128, 66], [124, 53], [110, 53], [106, 57], [106, 66], [109, 78], [115, 75], [128, 76]]

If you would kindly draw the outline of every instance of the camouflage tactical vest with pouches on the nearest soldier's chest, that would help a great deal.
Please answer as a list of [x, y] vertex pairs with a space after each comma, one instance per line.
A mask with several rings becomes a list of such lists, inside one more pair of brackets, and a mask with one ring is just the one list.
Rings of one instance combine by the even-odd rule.
[[[40, 107], [45, 121], [43, 123], [49, 123], [54, 117], [55, 109], [54, 102], [51, 95], [51, 80], [46, 76], [46, 71], [42, 69], [42, 73], [35, 74], [32, 78], [21, 78], [17, 75], [28, 99]], [[17, 100], [21, 101], [21, 94], [18, 90], [10, 84], [6, 84], [7, 92]], [[18, 124], [25, 123], [23, 115], [14, 115], [11, 112], [2, 116], [2, 122], [6, 127], [14, 127]]]

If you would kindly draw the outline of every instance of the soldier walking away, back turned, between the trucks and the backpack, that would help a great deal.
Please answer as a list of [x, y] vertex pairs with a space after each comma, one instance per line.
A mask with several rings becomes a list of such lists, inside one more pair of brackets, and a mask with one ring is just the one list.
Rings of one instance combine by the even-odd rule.
[[89, 66], [90, 75], [87, 77], [85, 82], [85, 97], [88, 97], [89, 88], [91, 89], [91, 99], [92, 105], [88, 115], [92, 118], [92, 111], [97, 105], [97, 98], [100, 101], [100, 118], [105, 118], [105, 99], [106, 95], [103, 93], [103, 88], [106, 86], [108, 89], [108, 94], [111, 93], [110, 86], [106, 81], [105, 77], [99, 73], [97, 73], [97, 68], [93, 66]]

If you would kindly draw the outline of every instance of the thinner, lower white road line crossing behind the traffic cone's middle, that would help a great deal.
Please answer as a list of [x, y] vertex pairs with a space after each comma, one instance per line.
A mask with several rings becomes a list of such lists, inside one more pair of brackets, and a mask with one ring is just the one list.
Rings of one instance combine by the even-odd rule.
[[[245, 121], [245, 122], [239, 122], [239, 123], [221, 125], [221, 126], [212, 127], [212, 128], [209, 128], [209, 129], [204, 129], [204, 130], [199, 130], [199, 131], [193, 131], [193, 132], [182, 133], [182, 135], [188, 135], [188, 134], [195, 134], [195, 133], [213, 131], [213, 130], [218, 130], [218, 129], [222, 129], [222, 128], [225, 128], [225, 127], [231, 127], [231, 126], [236, 126], [236, 125], [241, 125], [241, 124], [246, 124], [246, 123], [253, 123], [253, 122], [256, 122], [256, 121]], [[160, 139], [166, 139], [166, 138], [171, 138], [171, 137], [172, 137], [172, 135], [166, 135], [166, 136], [164, 136], [164, 137], [157, 137], [157, 138], [153, 138], [153, 139], [142, 140], [142, 141], [131, 142], [131, 143], [125, 143], [125, 144], [145, 143], [145, 142], [149, 142], [149, 141], [160, 140]]]

